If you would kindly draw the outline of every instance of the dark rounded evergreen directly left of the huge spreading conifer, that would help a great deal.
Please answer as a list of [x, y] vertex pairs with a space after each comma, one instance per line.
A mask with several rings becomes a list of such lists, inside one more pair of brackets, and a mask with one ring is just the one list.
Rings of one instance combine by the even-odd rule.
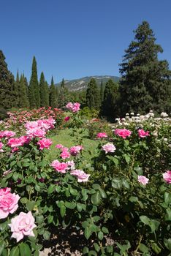
[[109, 79], [104, 89], [102, 116], [114, 118], [118, 114], [118, 84]]

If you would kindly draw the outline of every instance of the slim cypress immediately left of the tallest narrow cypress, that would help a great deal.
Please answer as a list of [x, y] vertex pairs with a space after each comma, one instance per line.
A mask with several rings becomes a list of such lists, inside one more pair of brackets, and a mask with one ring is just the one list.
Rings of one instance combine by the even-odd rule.
[[26, 85], [26, 78], [24, 75], [20, 75], [20, 83], [19, 83], [19, 107], [20, 108], [28, 108], [29, 107], [29, 100], [27, 95], [27, 85]]

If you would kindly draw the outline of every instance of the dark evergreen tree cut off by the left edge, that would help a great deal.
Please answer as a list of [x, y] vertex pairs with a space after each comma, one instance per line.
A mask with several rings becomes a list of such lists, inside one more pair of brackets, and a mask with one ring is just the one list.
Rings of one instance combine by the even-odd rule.
[[5, 62], [5, 56], [2, 50], [0, 50], [0, 107], [12, 108], [15, 106], [15, 94], [14, 94], [15, 79], [11, 72], [7, 68]]

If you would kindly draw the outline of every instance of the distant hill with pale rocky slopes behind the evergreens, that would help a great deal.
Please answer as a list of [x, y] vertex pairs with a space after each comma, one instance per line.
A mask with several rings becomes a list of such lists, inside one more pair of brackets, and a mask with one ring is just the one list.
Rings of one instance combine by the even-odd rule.
[[[91, 78], [96, 79], [96, 83], [98, 86], [100, 86], [101, 82], [105, 84], [107, 80], [112, 79], [115, 82], [118, 82], [120, 78], [112, 75], [94, 75], [90, 77], [85, 77], [85, 78], [79, 78], [79, 79], [74, 79], [74, 80], [65, 80], [65, 86], [69, 91], [83, 91], [84, 89], [87, 88], [88, 82], [91, 80]], [[60, 83], [56, 83], [56, 86], [60, 86]]]

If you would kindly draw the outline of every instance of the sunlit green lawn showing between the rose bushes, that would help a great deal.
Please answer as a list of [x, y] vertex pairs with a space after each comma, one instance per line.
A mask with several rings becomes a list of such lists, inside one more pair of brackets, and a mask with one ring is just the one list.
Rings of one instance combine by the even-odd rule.
[[[58, 154], [58, 149], [55, 147], [56, 144], [62, 144], [65, 147], [70, 148], [71, 146], [76, 146], [74, 138], [70, 135], [71, 129], [62, 129], [59, 130], [56, 135], [50, 136], [50, 139], [53, 140], [53, 145], [50, 146], [50, 151], [48, 151], [48, 159], [56, 159]], [[88, 131], [85, 129], [83, 133], [83, 157], [87, 160], [91, 160], [91, 155], [94, 155], [94, 150], [98, 146], [99, 142], [97, 140], [91, 140], [88, 138]]]

